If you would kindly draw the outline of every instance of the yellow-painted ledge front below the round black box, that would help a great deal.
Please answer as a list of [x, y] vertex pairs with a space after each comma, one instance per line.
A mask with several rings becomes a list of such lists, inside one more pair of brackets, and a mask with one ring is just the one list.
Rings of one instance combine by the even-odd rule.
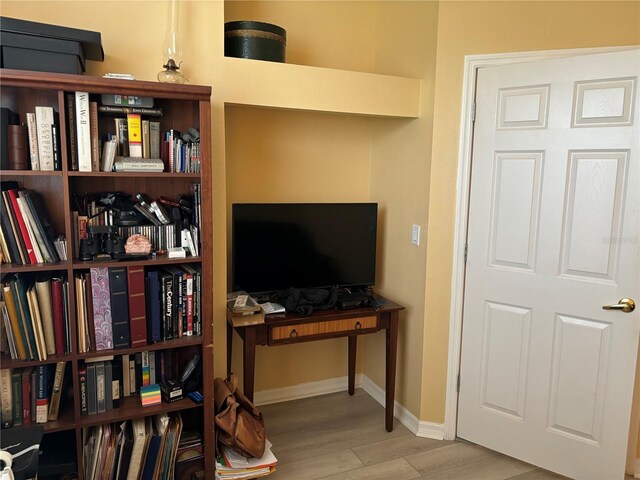
[[[224, 58], [227, 104], [416, 118], [420, 80], [244, 58]], [[256, 82], [255, 79], [260, 81]]]

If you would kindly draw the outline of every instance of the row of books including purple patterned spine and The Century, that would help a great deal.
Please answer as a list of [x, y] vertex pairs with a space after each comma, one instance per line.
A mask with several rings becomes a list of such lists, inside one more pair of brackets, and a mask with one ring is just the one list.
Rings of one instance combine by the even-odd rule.
[[80, 353], [202, 334], [199, 265], [91, 268], [74, 281]]

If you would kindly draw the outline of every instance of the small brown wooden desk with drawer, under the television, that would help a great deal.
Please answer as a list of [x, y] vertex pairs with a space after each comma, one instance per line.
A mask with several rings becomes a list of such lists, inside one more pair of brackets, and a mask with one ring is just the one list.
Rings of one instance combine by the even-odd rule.
[[[380, 298], [380, 297], [378, 297]], [[253, 401], [257, 345], [287, 345], [291, 343], [348, 337], [349, 339], [349, 395], [354, 394], [356, 375], [357, 336], [386, 331], [386, 399], [385, 428], [393, 430], [393, 405], [396, 387], [396, 355], [398, 350], [398, 313], [404, 307], [389, 300], [377, 308], [353, 310], [324, 310], [310, 316], [292, 313], [272, 314], [259, 325], [233, 327], [227, 315], [227, 372], [231, 371], [233, 331], [242, 338], [244, 394]], [[232, 328], [229, 328], [232, 327]]]

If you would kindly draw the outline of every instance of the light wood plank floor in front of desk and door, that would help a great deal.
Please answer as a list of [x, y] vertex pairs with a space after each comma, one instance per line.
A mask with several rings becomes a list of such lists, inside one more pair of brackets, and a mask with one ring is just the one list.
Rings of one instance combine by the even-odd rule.
[[[464, 441], [416, 437], [361, 389], [260, 407], [278, 458], [269, 480], [563, 479]], [[631, 478], [631, 477], [628, 477]]]

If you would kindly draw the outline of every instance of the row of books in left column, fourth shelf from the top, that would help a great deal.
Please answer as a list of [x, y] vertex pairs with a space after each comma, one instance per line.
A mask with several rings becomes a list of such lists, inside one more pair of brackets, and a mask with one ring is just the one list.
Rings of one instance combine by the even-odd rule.
[[66, 362], [0, 370], [2, 428], [58, 419]]

